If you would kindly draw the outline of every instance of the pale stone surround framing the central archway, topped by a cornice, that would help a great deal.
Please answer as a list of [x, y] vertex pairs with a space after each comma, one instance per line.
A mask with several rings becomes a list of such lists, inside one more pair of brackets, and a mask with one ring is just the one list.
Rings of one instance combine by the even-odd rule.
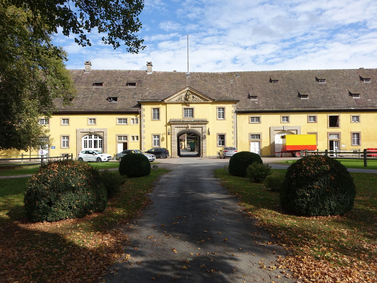
[[[177, 149], [177, 135], [182, 130], [192, 129], [193, 133], [200, 134], [200, 148], [201, 148], [201, 157], [207, 156], [207, 123], [208, 121], [201, 121], [201, 122], [181, 122], [181, 123], [172, 123], [170, 121], [170, 126], [172, 128], [171, 134], [171, 146], [172, 151], [170, 152], [171, 157], [178, 157], [178, 149]], [[195, 131], [195, 132], [194, 132]]]

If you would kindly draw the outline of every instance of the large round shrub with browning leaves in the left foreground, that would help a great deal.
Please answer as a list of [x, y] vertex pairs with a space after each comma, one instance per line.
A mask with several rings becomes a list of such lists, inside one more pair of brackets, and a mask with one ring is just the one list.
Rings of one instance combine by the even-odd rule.
[[106, 208], [100, 172], [76, 160], [42, 165], [26, 182], [26, 217], [34, 222], [84, 217]]

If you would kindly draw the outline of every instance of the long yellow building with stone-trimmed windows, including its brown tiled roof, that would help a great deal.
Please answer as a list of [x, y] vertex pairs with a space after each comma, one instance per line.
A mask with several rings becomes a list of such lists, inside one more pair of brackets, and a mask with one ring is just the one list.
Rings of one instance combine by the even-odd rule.
[[[179, 137], [197, 137], [201, 157], [223, 146], [280, 156], [282, 137], [316, 134], [322, 151], [377, 148], [375, 69], [191, 73], [71, 70], [73, 105], [50, 119], [50, 157], [98, 149], [167, 148], [181, 155]], [[276, 153], [279, 152], [279, 153]], [[2, 151], [0, 155], [30, 152]], [[288, 154], [287, 156], [290, 156]]]

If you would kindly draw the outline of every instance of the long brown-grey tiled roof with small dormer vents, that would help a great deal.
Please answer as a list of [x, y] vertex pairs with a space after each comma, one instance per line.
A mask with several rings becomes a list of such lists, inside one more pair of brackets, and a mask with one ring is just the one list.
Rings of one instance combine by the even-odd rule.
[[[238, 101], [239, 111], [377, 110], [377, 69], [250, 72], [70, 70], [78, 89], [74, 105], [60, 111], [137, 111], [138, 101], [160, 101], [186, 87], [213, 100]], [[237, 75], [238, 74], [238, 75]], [[278, 83], [272, 83], [278, 80]], [[319, 83], [318, 78], [326, 83]], [[370, 78], [371, 82], [363, 82]], [[136, 83], [136, 87], [127, 86]], [[93, 86], [103, 83], [102, 87]], [[353, 98], [359, 93], [360, 98]], [[301, 99], [307, 94], [308, 99]], [[257, 100], [250, 100], [257, 96]], [[109, 102], [107, 97], [118, 97]]]

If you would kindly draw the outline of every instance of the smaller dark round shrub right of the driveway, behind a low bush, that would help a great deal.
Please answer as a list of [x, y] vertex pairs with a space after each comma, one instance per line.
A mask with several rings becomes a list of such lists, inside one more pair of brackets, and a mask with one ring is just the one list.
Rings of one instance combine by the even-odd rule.
[[254, 152], [237, 152], [229, 160], [229, 173], [234, 176], [246, 177], [247, 167], [253, 162], [263, 163], [262, 158]]

